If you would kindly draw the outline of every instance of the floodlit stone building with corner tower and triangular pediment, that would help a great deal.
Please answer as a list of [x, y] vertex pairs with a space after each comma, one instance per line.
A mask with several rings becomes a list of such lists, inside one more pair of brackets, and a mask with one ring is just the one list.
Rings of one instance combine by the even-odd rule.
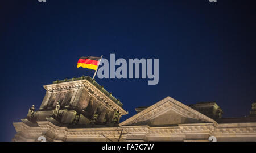
[[216, 102], [184, 105], [171, 97], [119, 123], [122, 103], [89, 76], [44, 85], [40, 109], [13, 123], [13, 141], [256, 141], [256, 103], [250, 115], [222, 118]]

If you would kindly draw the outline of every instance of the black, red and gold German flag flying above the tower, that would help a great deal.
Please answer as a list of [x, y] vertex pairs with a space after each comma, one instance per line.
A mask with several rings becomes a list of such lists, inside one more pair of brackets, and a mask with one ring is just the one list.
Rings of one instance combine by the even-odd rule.
[[96, 70], [100, 59], [101, 57], [94, 56], [80, 57], [79, 61], [77, 62], [77, 68], [83, 67]]

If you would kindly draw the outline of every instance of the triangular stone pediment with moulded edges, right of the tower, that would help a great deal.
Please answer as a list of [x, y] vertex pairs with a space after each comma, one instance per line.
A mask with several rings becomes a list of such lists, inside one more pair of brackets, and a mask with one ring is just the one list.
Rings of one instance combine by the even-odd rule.
[[175, 126], [179, 124], [205, 122], [216, 123], [213, 119], [174, 100], [174, 98], [166, 97], [138, 114], [135, 114], [133, 117], [126, 119], [126, 121], [119, 123], [119, 126]]

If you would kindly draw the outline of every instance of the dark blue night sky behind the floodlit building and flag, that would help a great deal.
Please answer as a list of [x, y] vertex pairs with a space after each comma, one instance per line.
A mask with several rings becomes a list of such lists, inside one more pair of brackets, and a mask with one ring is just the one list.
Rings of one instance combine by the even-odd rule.
[[256, 101], [253, 1], [0, 2], [1, 141], [43, 100], [43, 85], [93, 76], [80, 56], [158, 58], [159, 84], [97, 79], [129, 111], [167, 96], [184, 104], [216, 101], [224, 117], [248, 115]]

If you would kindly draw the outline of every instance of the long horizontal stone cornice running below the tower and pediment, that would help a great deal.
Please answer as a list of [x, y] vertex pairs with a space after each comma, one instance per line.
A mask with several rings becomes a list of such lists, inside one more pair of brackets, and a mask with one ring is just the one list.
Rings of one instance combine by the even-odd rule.
[[211, 134], [216, 137], [256, 137], [256, 127], [215, 127], [213, 123], [183, 124], [175, 127], [149, 127], [149, 126], [122, 126], [75, 128], [59, 127], [48, 121], [38, 122], [39, 127], [29, 127], [25, 123], [13, 123], [17, 132], [26, 132], [28, 135], [40, 135], [49, 131], [52, 135], [65, 138], [84, 137], [118, 137], [121, 130], [127, 135], [147, 135], [147, 137], [181, 137], [185, 134]]

